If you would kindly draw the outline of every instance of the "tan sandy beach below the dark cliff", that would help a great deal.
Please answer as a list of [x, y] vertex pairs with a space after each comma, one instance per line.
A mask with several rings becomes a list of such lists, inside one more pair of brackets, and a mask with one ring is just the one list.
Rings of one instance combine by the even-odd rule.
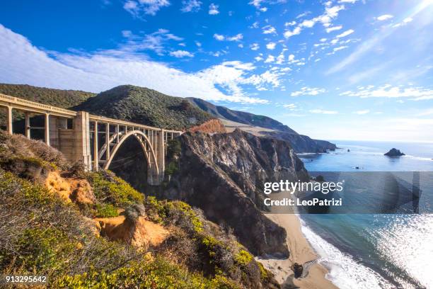
[[[272, 199], [290, 198], [287, 192], [272, 194]], [[287, 212], [287, 208], [284, 208]], [[301, 222], [295, 214], [282, 213], [282, 208], [272, 208], [272, 213], [266, 214], [272, 221], [283, 227], [287, 232], [287, 246], [290, 256], [288, 259], [258, 258], [267, 269], [275, 274], [275, 279], [284, 284], [283, 288], [311, 288], [328, 289], [337, 288], [330, 280], [326, 279], [328, 270], [316, 263], [318, 255], [308, 243], [301, 232]], [[303, 276], [294, 278], [291, 266], [299, 263], [304, 266]], [[293, 281], [292, 281], [293, 280]]]

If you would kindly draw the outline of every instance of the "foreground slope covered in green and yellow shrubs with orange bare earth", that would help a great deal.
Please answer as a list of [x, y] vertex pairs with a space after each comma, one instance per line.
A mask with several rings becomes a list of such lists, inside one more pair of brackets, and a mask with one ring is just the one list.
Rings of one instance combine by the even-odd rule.
[[1, 131], [0, 211], [0, 273], [49, 288], [279, 288], [201, 210]]

